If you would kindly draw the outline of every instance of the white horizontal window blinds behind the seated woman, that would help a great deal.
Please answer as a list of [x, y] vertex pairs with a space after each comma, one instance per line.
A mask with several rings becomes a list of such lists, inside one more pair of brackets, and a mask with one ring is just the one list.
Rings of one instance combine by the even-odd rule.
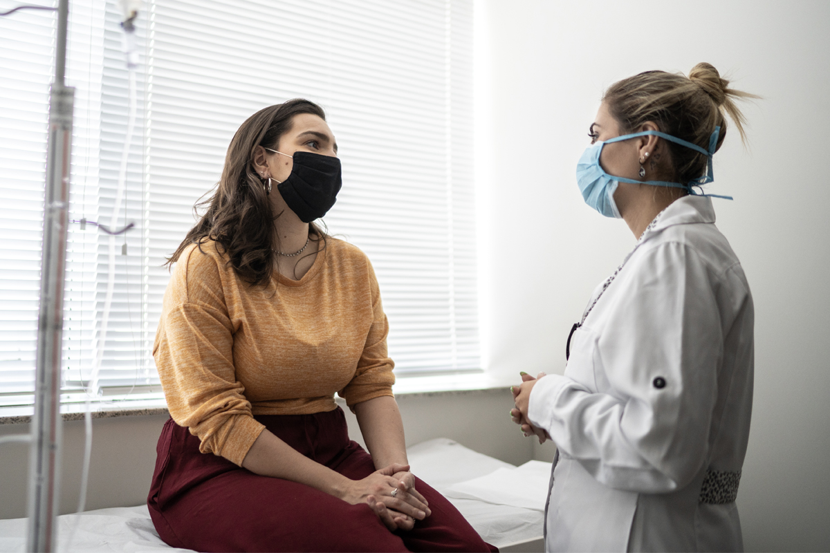
[[[128, 90], [119, 15], [115, 3], [104, 0], [73, 0], [71, 6], [76, 220], [108, 222], [114, 207]], [[22, 18], [0, 19], [0, 95], [4, 105], [17, 95], [23, 106], [19, 114], [3, 109], [0, 135], [0, 209], [13, 212], [0, 228], [17, 244], [0, 254], [5, 405], [25, 402], [33, 381], [54, 55], [53, 16], [25, 16], [25, 25]], [[144, 53], [139, 132], [121, 206], [123, 220], [136, 229], [117, 240], [100, 373], [106, 396], [158, 396], [151, 350], [169, 278], [161, 265], [193, 225], [194, 202], [217, 182], [238, 126], [256, 110], [295, 97], [321, 104], [338, 138], [344, 187], [325, 222], [374, 264], [398, 374], [480, 368], [472, 21], [470, 1], [146, 3], [138, 31]], [[24, 40], [37, 45], [23, 48]], [[22, 67], [19, 75], [5, 70], [15, 64]], [[37, 96], [20, 92], [23, 80]], [[12, 148], [22, 148], [9, 130], [15, 125], [25, 125], [31, 136], [25, 156]], [[78, 225], [70, 240], [64, 399], [75, 401], [83, 399], [81, 385], [100, 347], [108, 240]]]

